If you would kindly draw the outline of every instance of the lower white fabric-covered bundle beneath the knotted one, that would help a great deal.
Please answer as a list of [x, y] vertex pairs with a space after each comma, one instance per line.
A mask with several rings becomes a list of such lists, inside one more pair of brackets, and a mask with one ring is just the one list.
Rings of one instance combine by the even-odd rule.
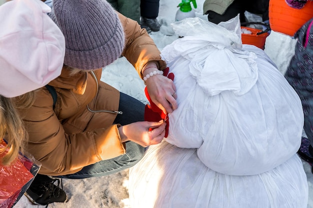
[[130, 169], [128, 192], [131, 208], [307, 208], [308, 200], [297, 155], [262, 174], [231, 176], [165, 141]]

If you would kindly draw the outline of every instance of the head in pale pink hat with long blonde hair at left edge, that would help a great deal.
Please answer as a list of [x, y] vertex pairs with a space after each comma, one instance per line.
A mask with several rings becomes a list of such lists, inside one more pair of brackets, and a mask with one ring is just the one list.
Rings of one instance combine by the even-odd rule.
[[[0, 164], [17, 157], [26, 134], [12, 97], [27, 93], [59, 76], [65, 53], [64, 36], [47, 15], [51, 9], [39, 0], [11, 0], [0, 6]], [[25, 93], [27, 93], [25, 95]]]

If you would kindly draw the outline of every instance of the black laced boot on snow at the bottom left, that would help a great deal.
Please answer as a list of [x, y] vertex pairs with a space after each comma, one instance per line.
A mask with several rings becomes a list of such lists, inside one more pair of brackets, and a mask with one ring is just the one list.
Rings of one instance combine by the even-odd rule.
[[[57, 185], [54, 183], [57, 182]], [[65, 192], [59, 188], [60, 180], [37, 174], [27, 189], [25, 196], [35, 205], [48, 205], [54, 202], [66, 202]]]

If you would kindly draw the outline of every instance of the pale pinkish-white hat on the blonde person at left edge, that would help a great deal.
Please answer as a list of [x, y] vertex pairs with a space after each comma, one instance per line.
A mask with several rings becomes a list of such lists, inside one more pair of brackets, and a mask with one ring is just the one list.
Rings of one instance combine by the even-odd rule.
[[50, 11], [40, 0], [0, 6], [0, 95], [19, 96], [60, 75], [65, 40]]

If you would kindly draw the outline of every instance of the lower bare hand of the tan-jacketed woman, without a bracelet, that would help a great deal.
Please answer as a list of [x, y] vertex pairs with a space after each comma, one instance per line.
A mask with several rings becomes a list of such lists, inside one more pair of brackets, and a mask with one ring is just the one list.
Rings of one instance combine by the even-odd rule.
[[[132, 141], [142, 147], [160, 143], [165, 135], [166, 124], [159, 122], [139, 121], [118, 127], [121, 142]], [[152, 129], [149, 131], [149, 129]]]

